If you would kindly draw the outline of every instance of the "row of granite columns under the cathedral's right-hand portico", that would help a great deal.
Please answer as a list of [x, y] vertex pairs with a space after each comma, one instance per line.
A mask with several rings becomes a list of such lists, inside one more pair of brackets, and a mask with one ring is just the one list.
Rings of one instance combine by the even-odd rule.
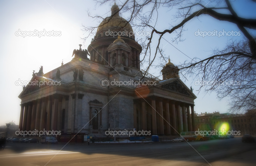
[[152, 135], [178, 135], [182, 131], [195, 131], [193, 104], [153, 97], [147, 100], [134, 100], [133, 110], [134, 128], [151, 130]]

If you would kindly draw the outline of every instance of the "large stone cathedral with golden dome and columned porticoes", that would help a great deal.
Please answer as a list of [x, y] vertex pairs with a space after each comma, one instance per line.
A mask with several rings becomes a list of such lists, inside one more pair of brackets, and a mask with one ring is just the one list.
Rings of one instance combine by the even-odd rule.
[[[162, 80], [145, 75], [140, 70], [142, 47], [118, 11], [114, 4], [88, 51], [79, 45], [70, 62], [48, 73], [41, 66], [33, 73], [31, 81], [39, 85], [27, 85], [18, 96], [20, 130], [61, 131], [59, 141], [78, 133], [76, 142], [87, 136], [109, 137], [108, 130], [144, 130], [159, 136], [195, 131], [196, 96], [180, 80], [177, 66], [169, 59], [161, 70]], [[106, 35], [115, 31], [126, 33]]]

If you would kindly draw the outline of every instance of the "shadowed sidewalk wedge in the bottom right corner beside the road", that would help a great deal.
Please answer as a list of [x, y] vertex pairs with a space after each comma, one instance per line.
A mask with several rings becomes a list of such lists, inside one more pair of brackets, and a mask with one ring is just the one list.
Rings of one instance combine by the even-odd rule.
[[[256, 164], [256, 149], [241, 153], [239, 155], [231, 156], [219, 161], [210, 163], [212, 166], [240, 166], [240, 165], [255, 165]], [[209, 164], [206, 164], [209, 165]]]

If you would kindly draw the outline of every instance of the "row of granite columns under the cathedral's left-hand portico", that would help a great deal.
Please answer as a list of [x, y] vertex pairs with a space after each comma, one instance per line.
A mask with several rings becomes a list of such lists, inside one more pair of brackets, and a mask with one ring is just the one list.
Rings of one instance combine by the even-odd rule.
[[62, 98], [68, 107], [69, 96], [54, 94], [42, 99], [20, 104], [19, 129], [22, 131], [57, 130], [61, 125]]

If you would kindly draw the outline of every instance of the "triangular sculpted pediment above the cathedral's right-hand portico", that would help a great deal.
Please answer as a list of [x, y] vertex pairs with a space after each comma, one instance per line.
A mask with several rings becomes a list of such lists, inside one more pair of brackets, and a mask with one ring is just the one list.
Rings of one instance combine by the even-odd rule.
[[196, 98], [196, 95], [178, 77], [160, 81], [156, 86], [167, 91]]

